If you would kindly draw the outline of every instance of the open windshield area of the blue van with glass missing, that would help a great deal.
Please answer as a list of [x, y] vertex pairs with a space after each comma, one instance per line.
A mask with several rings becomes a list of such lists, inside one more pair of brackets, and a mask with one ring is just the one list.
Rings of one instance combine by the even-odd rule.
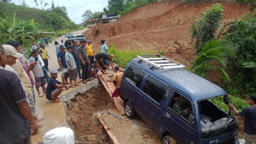
[[[227, 124], [233, 120], [231, 116], [216, 105], [218, 104], [216, 102], [222, 98], [223, 96], [218, 96], [197, 102], [201, 131], [210, 131], [220, 127], [226, 127]], [[221, 104], [223, 105], [223, 102]]]

